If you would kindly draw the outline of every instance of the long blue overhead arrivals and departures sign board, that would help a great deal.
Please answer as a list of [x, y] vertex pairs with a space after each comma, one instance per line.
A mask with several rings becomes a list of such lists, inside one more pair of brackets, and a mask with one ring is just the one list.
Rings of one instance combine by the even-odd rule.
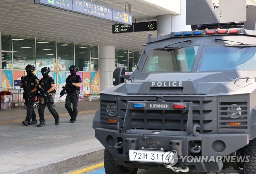
[[132, 25], [131, 13], [126, 13], [124, 11], [119, 11], [84, 0], [34, 0], [34, 3]]

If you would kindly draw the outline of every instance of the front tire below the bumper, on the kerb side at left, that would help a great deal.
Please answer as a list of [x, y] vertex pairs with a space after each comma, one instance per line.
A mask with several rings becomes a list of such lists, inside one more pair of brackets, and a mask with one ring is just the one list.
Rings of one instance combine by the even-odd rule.
[[138, 169], [117, 165], [106, 148], [104, 150], [104, 168], [106, 174], [137, 174], [138, 171]]

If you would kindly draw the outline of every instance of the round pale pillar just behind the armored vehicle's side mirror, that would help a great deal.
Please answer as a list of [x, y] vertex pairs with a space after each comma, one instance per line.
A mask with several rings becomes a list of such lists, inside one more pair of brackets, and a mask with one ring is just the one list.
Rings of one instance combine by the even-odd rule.
[[115, 47], [99, 47], [100, 91], [113, 87], [112, 77], [115, 70]]

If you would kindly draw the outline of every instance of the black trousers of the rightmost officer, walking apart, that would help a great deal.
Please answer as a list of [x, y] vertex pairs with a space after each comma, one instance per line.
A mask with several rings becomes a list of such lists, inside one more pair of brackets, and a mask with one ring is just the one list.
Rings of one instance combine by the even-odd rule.
[[[71, 108], [71, 103], [73, 106], [73, 110]], [[66, 103], [65, 103], [65, 107], [71, 117], [71, 121], [72, 120], [76, 120], [77, 117], [77, 105], [78, 105], [78, 95], [77, 93], [68, 93], [66, 96]]]

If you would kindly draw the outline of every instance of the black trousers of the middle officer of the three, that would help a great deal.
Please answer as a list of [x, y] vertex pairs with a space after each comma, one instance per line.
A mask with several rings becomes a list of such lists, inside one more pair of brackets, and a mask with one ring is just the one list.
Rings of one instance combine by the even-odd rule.
[[47, 103], [47, 104], [42, 104], [41, 101], [39, 100], [39, 107], [38, 107], [38, 114], [39, 114], [39, 121], [40, 123], [45, 123], [44, 119], [44, 109], [47, 105], [48, 110], [51, 112], [53, 115], [54, 119], [57, 120], [59, 118], [58, 112], [54, 109], [54, 106], [52, 103]]

